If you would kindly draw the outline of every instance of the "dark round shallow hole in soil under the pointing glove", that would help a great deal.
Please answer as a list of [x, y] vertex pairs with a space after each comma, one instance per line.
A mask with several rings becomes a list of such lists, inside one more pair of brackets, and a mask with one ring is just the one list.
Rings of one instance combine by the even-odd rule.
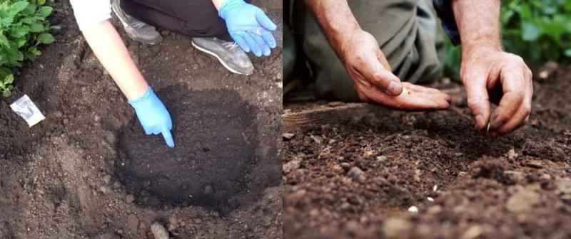
[[233, 196], [246, 190], [258, 144], [253, 107], [231, 90], [173, 86], [157, 95], [171, 113], [175, 148], [144, 134], [136, 119], [118, 142], [118, 176], [136, 203], [237, 208]]

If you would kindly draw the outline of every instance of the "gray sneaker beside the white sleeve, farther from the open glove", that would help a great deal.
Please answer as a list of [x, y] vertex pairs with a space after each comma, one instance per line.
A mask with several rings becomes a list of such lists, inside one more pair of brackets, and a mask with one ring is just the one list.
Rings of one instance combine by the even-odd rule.
[[156, 31], [154, 26], [148, 25], [147, 23], [143, 23], [139, 21], [137, 18], [132, 16], [128, 16], [125, 14], [123, 9], [121, 9], [120, 0], [113, 0], [111, 1], [111, 8], [113, 12], [117, 15], [121, 23], [123, 23], [123, 27], [127, 32], [127, 35], [140, 43], [146, 44], [156, 44], [163, 41], [163, 37], [161, 34]]

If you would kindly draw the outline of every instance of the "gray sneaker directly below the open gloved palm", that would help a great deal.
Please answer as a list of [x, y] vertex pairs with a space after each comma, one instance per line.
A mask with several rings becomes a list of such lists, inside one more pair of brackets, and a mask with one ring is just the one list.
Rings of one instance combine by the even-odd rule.
[[196, 49], [216, 56], [222, 65], [233, 73], [251, 75], [254, 66], [248, 55], [233, 41], [218, 38], [192, 38]]

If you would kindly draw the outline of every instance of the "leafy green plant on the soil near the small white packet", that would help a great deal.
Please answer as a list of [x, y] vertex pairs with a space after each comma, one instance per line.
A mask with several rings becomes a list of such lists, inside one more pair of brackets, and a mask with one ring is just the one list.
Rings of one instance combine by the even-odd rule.
[[45, 0], [0, 0], [0, 92], [8, 97], [13, 89], [14, 70], [24, 60], [34, 60], [40, 44], [55, 41], [47, 17], [53, 10]]

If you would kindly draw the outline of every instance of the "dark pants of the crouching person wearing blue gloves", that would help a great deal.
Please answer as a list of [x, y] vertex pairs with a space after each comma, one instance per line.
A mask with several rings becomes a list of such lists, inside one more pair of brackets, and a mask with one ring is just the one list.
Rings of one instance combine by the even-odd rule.
[[121, 0], [121, 9], [152, 26], [185, 36], [232, 41], [212, 0]]

